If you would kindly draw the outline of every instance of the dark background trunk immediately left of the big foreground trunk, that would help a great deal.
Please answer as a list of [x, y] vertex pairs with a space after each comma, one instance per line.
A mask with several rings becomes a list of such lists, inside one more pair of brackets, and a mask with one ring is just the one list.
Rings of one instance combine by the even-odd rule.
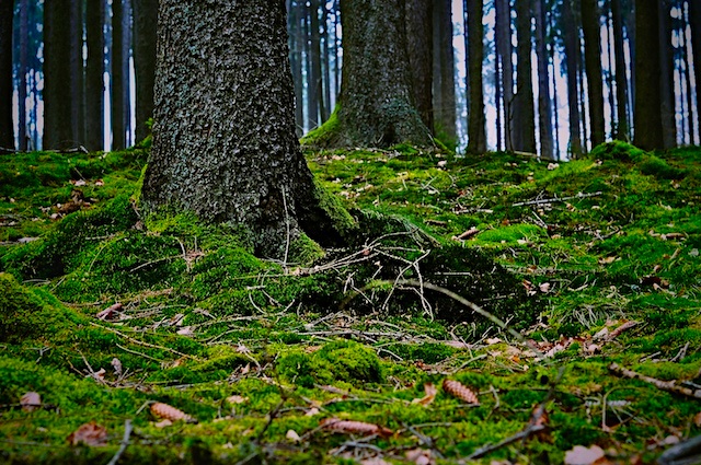
[[153, 116], [158, 5], [159, 0], [133, 0], [137, 142], [148, 136], [146, 121]]

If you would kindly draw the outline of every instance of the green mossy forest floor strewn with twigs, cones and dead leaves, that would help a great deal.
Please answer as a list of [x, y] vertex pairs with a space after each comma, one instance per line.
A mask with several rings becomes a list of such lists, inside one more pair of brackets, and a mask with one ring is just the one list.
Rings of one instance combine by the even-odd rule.
[[361, 228], [312, 264], [143, 218], [140, 149], [0, 158], [0, 462], [644, 464], [701, 434], [701, 149], [307, 156]]

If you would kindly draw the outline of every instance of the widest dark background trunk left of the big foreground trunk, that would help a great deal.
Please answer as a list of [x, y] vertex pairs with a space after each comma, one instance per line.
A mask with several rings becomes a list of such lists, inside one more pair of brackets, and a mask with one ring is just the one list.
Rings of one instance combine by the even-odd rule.
[[70, 2], [44, 1], [44, 149], [72, 147], [70, 120]]

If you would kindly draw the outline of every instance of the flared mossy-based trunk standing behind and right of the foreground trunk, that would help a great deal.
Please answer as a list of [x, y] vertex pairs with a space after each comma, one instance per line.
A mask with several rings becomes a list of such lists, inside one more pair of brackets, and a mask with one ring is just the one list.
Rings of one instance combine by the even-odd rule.
[[414, 107], [404, 0], [341, 0], [343, 77], [336, 118], [308, 141], [320, 147], [430, 146]]

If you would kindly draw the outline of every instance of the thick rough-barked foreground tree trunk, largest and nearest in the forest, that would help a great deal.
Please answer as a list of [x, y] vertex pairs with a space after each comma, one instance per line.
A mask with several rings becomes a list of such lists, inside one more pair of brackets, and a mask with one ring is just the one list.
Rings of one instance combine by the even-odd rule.
[[286, 259], [302, 232], [338, 243], [334, 204], [299, 149], [294, 104], [284, 2], [161, 0], [145, 208], [241, 224], [274, 258]]

